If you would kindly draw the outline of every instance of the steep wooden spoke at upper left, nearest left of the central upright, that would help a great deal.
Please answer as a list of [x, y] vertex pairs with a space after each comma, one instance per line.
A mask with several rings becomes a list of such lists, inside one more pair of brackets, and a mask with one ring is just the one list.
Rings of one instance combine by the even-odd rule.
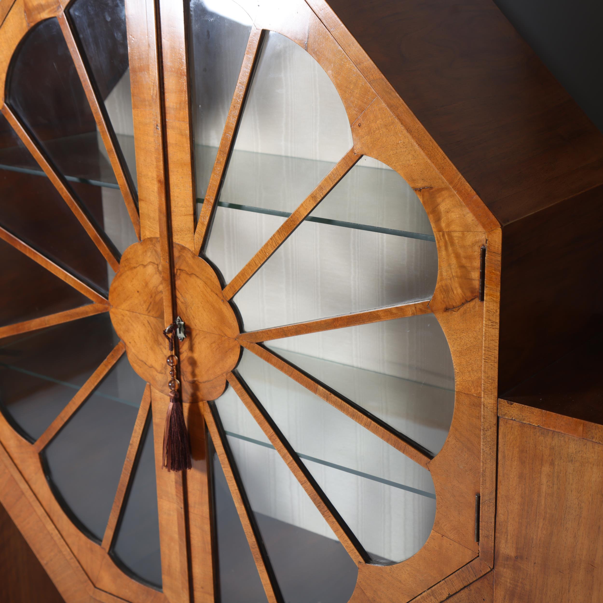
[[76, 36], [74, 36], [74, 32], [71, 29], [71, 24], [65, 16], [65, 13], [61, 12], [59, 14], [58, 22], [61, 26], [61, 30], [63, 31], [63, 36], [65, 36], [67, 46], [69, 47], [71, 58], [75, 63], [75, 69], [77, 69], [81, 85], [86, 93], [88, 104], [90, 105], [90, 109], [92, 109], [92, 115], [94, 115], [96, 127], [98, 127], [98, 131], [103, 139], [103, 144], [107, 149], [107, 155], [109, 156], [109, 161], [111, 162], [113, 172], [115, 172], [119, 190], [124, 197], [125, 206], [130, 214], [130, 219], [132, 221], [132, 225], [134, 226], [134, 230], [136, 231], [136, 236], [140, 239], [140, 216], [138, 215], [136, 202], [134, 201], [134, 185], [131, 182], [129, 172], [124, 168], [125, 159], [121, 153], [121, 148], [119, 148], [115, 133], [113, 132], [113, 126], [111, 125], [109, 116], [104, 108], [103, 99], [97, 96], [97, 88], [92, 85], [94, 78], [86, 68], [87, 63], [83, 60], [83, 52], [78, 45]]

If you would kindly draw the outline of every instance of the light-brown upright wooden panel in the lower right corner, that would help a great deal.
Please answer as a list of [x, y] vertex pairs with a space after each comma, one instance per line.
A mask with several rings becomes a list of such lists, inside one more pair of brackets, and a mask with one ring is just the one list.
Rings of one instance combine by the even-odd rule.
[[499, 426], [495, 603], [603, 600], [603, 446]]

